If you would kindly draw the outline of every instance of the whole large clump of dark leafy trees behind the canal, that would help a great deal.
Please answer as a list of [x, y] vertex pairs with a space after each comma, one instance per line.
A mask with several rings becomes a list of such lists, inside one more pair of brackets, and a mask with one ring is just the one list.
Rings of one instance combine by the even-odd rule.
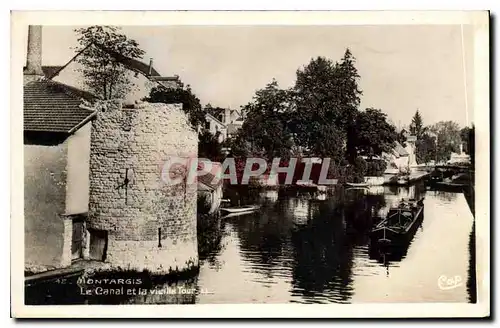
[[397, 133], [379, 109], [358, 111], [361, 91], [355, 60], [349, 49], [340, 62], [312, 59], [297, 70], [295, 85], [282, 90], [276, 81], [256, 92], [242, 108], [245, 122], [229, 140], [232, 156], [329, 157], [328, 177], [362, 180], [380, 175], [385, 163], [359, 155], [389, 151]]

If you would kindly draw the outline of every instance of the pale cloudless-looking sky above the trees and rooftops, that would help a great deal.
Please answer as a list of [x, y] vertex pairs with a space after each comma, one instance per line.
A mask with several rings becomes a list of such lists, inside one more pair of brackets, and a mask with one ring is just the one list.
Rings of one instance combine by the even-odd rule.
[[[62, 65], [77, 45], [74, 27], [43, 28], [43, 64]], [[375, 107], [396, 125], [418, 108], [424, 124], [466, 124], [460, 25], [158, 26], [122, 29], [154, 59], [162, 75], [178, 74], [202, 104], [238, 108], [272, 78], [281, 87], [312, 57], [357, 59], [361, 108]], [[469, 122], [473, 121], [473, 33], [464, 26]]]

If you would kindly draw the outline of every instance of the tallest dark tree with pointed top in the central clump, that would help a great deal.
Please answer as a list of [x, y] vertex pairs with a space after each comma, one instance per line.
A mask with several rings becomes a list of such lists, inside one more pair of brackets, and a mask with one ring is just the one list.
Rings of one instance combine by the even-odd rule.
[[354, 62], [347, 49], [340, 62], [317, 57], [297, 70], [291, 130], [297, 144], [311, 155], [340, 162], [345, 147], [349, 148], [348, 134], [355, 133], [352, 122], [362, 94]]

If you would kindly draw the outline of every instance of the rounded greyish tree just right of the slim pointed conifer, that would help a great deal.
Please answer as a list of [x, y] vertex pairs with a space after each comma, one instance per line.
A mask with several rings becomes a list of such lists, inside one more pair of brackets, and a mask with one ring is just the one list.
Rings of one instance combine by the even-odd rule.
[[446, 161], [452, 152], [458, 152], [461, 144], [460, 127], [453, 121], [441, 121], [430, 127], [437, 138], [437, 160]]

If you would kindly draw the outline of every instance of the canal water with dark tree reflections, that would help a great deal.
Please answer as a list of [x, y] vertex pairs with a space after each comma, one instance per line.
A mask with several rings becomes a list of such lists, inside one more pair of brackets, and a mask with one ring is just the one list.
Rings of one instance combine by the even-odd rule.
[[[474, 302], [473, 215], [462, 193], [410, 187], [231, 194], [258, 212], [199, 220], [199, 272], [151, 282], [137, 296], [81, 296], [67, 285], [33, 286], [27, 304]], [[408, 245], [370, 245], [372, 217], [402, 198], [424, 199]], [[119, 274], [117, 274], [119, 275]], [[471, 287], [472, 286], [472, 287]], [[49, 297], [47, 296], [48, 294]], [[62, 295], [61, 295], [62, 294]]]

